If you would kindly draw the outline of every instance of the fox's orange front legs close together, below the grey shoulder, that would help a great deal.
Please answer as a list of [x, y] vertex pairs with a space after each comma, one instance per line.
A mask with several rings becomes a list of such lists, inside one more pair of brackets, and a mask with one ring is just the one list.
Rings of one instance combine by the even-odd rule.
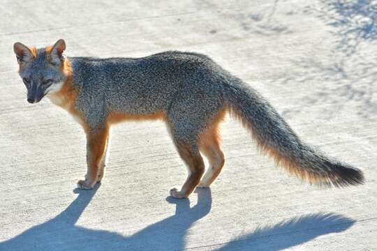
[[84, 180], [77, 182], [80, 189], [91, 189], [98, 181], [103, 157], [108, 143], [109, 130], [101, 128], [87, 133], [87, 174]]

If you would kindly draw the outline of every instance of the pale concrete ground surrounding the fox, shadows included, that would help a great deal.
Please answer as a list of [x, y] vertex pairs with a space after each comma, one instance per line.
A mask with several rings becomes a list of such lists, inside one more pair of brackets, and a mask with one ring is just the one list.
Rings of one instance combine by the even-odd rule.
[[[0, 250], [377, 250], [376, 1], [5, 0], [0, 14]], [[84, 133], [27, 103], [13, 54], [59, 38], [68, 56], [208, 54], [366, 183], [303, 183], [228, 119], [223, 172], [189, 200], [168, 197], [186, 168], [158, 121], [113, 128], [101, 187], [75, 190]]]

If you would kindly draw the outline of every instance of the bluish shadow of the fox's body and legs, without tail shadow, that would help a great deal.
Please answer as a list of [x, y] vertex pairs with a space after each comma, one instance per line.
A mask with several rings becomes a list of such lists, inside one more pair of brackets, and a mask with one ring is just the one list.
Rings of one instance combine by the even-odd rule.
[[182, 250], [187, 229], [211, 210], [211, 191], [198, 189], [198, 204], [190, 208], [188, 199], [168, 197], [169, 203], [176, 204], [175, 215], [132, 236], [75, 225], [100, 185], [74, 190], [78, 196], [68, 208], [52, 220], [1, 242], [0, 250]]

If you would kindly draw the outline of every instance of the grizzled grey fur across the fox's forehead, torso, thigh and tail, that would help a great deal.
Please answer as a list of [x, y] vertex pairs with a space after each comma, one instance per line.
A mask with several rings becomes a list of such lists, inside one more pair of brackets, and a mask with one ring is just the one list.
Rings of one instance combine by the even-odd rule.
[[[49, 75], [38, 50], [33, 79]], [[153, 114], [164, 112], [176, 142], [198, 153], [198, 137], [224, 107], [234, 109], [247, 123], [257, 142], [273, 149], [327, 185], [362, 183], [362, 172], [330, 160], [304, 144], [269, 102], [242, 80], [207, 56], [163, 52], [140, 59], [71, 57], [73, 84], [79, 90], [75, 107], [84, 114], [90, 130], [101, 128], [111, 112]], [[40, 72], [36, 72], [36, 68]], [[47, 67], [48, 68], [48, 67]], [[24, 73], [27, 74], [27, 70]]]

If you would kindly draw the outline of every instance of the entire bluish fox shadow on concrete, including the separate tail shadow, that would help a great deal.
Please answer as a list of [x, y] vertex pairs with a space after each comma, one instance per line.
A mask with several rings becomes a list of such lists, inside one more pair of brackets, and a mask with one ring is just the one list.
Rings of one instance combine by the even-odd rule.
[[[194, 222], [211, 211], [209, 189], [197, 189], [198, 203], [190, 208], [188, 199], [167, 201], [176, 204], [175, 215], [156, 222], [132, 236], [76, 226], [94, 190], [76, 190], [77, 198], [52, 220], [31, 227], [22, 234], [0, 243], [0, 250], [184, 250], [185, 236]], [[355, 221], [332, 213], [305, 215], [258, 228], [235, 238], [219, 250], [281, 250], [317, 236], [348, 229]]]

